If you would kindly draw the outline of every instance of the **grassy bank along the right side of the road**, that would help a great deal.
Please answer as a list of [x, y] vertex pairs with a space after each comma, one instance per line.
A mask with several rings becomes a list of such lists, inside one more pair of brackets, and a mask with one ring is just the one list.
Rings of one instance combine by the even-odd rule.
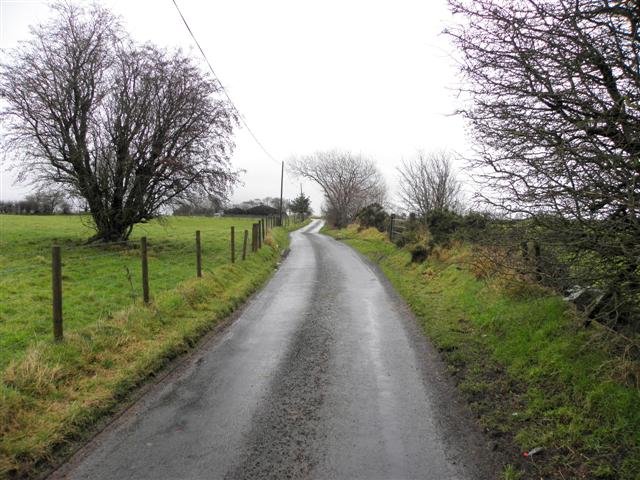
[[416, 313], [504, 458], [503, 478], [640, 478], [640, 367], [629, 342], [585, 329], [532, 282], [487, 275], [469, 246], [415, 264], [375, 230], [326, 233], [377, 262]]

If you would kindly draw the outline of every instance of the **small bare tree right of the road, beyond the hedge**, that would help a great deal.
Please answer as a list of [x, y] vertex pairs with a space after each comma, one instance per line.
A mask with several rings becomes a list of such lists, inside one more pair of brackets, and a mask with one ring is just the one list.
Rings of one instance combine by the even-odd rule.
[[447, 151], [420, 153], [398, 167], [400, 200], [404, 207], [421, 217], [433, 210], [458, 210], [460, 182]]

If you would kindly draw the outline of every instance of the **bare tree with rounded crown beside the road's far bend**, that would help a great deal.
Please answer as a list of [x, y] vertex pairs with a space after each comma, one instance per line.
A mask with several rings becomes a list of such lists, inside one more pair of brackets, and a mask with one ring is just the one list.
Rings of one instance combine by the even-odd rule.
[[351, 222], [358, 211], [383, 204], [386, 185], [375, 163], [350, 152], [330, 150], [294, 159], [289, 168], [322, 188], [329, 221], [337, 227]]

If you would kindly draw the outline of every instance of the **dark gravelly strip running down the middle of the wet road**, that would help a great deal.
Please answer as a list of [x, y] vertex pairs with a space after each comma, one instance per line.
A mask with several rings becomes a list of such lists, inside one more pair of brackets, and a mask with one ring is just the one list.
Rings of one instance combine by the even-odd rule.
[[225, 479], [311, 478], [322, 457], [318, 449], [325, 443], [320, 407], [334, 341], [332, 299], [339, 293], [340, 279], [323, 267], [319, 249], [314, 248], [314, 254], [319, 266], [316, 277], [322, 282], [318, 282], [270, 392], [258, 407], [240, 462]]

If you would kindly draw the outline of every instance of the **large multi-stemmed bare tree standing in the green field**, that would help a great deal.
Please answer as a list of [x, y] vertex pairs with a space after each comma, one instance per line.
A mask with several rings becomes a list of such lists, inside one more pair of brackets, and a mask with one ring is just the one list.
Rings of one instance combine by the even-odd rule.
[[220, 85], [179, 51], [136, 45], [100, 6], [54, 9], [0, 66], [20, 178], [84, 199], [102, 241], [190, 195], [224, 198], [235, 116]]

